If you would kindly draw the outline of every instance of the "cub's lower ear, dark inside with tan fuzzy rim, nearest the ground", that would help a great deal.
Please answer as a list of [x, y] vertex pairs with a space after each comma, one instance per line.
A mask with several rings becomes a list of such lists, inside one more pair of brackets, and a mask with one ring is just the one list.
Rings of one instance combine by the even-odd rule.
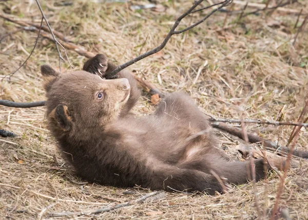
[[57, 105], [49, 116], [57, 122], [63, 131], [68, 132], [71, 130], [72, 118], [69, 116], [68, 107], [66, 105]]

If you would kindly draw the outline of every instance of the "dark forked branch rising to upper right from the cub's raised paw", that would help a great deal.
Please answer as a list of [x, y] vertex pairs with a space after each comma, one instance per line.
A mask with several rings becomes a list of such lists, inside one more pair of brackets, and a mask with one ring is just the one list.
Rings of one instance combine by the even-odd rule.
[[[201, 24], [202, 22], [204, 22], [206, 19], [208, 19], [209, 16], [211, 16], [213, 13], [215, 13], [216, 11], [218, 11], [219, 9], [227, 6], [228, 3], [232, 2], [233, 0], [226, 0], [224, 1], [223, 3], [219, 3], [219, 4], [222, 4], [221, 6], [219, 6], [218, 8], [214, 9], [213, 11], [211, 11], [208, 15], [206, 15], [202, 20], [200, 20], [199, 22], [183, 29], [183, 30], [179, 30], [179, 31], [176, 31], [176, 28], [178, 27], [178, 25], [180, 24], [180, 22], [182, 21], [182, 19], [184, 19], [184, 17], [186, 17], [188, 14], [190, 14], [198, 5], [200, 5], [203, 0], [200, 0], [198, 2], [195, 2], [195, 4], [190, 8], [188, 9], [184, 14], [182, 14], [180, 17], [178, 17], [178, 19], [176, 20], [176, 22], [174, 23], [174, 25], [172, 26], [172, 28], [170, 29], [170, 31], [168, 32], [166, 38], [164, 39], [164, 41], [162, 42], [161, 45], [159, 45], [158, 47], [150, 50], [150, 51], [147, 51], [143, 54], [141, 54], [140, 56], [122, 64], [122, 65], [119, 65], [117, 68], [115, 68], [113, 71], [110, 72], [110, 76], [114, 76], [116, 74], [118, 74], [118, 72], [120, 72], [122, 69], [134, 64], [134, 63], [137, 63], [138, 61], [148, 57], [148, 56], [151, 56], [152, 54], [154, 53], [157, 53], [158, 51], [162, 50], [167, 42], [169, 41], [169, 39], [171, 38], [172, 35], [174, 34], [180, 34], [180, 33], [183, 33], [187, 30], [190, 30], [191, 28], [194, 28], [196, 27], [197, 25]], [[215, 5], [211, 5], [211, 7], [213, 7]]]

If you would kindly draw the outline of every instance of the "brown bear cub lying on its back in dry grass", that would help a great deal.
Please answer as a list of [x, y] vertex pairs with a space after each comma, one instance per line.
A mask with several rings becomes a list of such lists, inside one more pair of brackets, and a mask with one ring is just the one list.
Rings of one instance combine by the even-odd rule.
[[[106, 77], [114, 68], [98, 55], [84, 70]], [[251, 179], [248, 162], [228, 162], [222, 156], [206, 117], [185, 94], [167, 94], [153, 114], [134, 117], [129, 111], [140, 91], [129, 72], [105, 80], [86, 71], [60, 75], [42, 66], [49, 129], [81, 177], [110, 186], [209, 194], [223, 192], [212, 171], [227, 178], [226, 183]], [[101, 101], [99, 91], [104, 93]], [[255, 170], [256, 180], [264, 176], [262, 159], [255, 160]]]

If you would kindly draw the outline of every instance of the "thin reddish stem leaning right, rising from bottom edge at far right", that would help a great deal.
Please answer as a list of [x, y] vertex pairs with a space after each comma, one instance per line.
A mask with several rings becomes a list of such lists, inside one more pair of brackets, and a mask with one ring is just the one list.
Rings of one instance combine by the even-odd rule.
[[[308, 112], [307, 104], [308, 104], [308, 100], [305, 104], [305, 107], [303, 108], [303, 111], [301, 112], [301, 116], [306, 115], [306, 113]], [[273, 211], [272, 211], [271, 220], [275, 219], [275, 214], [278, 210], [279, 200], [280, 200], [281, 194], [282, 194], [283, 189], [284, 189], [284, 181], [286, 179], [287, 171], [290, 169], [290, 160], [291, 160], [294, 148], [295, 148], [295, 144], [296, 144], [296, 142], [299, 138], [300, 129], [301, 129], [301, 126], [299, 126], [297, 131], [295, 132], [295, 137], [294, 137], [294, 140], [293, 140], [293, 144], [291, 146], [291, 150], [288, 153], [286, 161], [285, 161], [285, 170], [283, 172], [283, 177], [280, 179], [280, 184], [279, 184], [279, 187], [278, 187], [278, 192], [276, 194], [276, 201], [275, 201], [275, 205], [274, 205], [274, 208], [273, 208]]]

